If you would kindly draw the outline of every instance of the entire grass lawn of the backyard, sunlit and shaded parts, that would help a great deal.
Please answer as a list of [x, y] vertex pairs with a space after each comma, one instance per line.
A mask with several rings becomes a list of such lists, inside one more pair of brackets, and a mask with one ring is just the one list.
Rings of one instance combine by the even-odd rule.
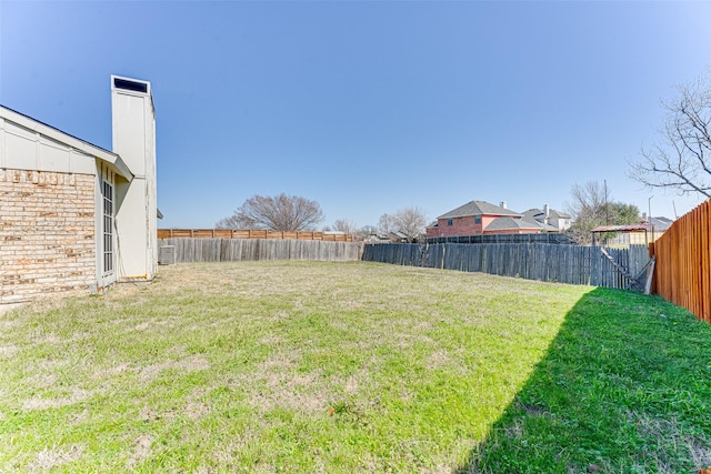
[[0, 472], [698, 473], [710, 347], [622, 291], [167, 266], [0, 316]]

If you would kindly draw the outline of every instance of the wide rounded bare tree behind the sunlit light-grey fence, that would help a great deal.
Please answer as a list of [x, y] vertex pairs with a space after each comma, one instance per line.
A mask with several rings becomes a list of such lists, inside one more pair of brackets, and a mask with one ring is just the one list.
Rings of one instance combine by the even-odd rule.
[[267, 229], [270, 231], [310, 231], [323, 221], [316, 201], [281, 193], [276, 196], [253, 195], [233, 215], [222, 219], [218, 229]]

